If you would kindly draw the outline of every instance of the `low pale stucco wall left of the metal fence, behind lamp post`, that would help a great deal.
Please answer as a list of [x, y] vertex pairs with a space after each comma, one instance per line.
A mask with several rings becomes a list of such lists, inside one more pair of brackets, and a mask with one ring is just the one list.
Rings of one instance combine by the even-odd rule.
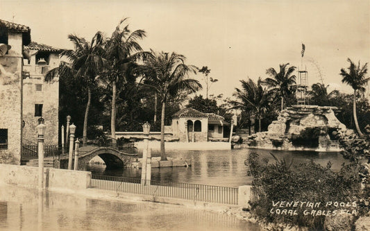
[[[0, 164], [0, 185], [37, 187], [38, 167]], [[44, 187], [49, 189], [87, 189], [90, 171], [44, 168]]]

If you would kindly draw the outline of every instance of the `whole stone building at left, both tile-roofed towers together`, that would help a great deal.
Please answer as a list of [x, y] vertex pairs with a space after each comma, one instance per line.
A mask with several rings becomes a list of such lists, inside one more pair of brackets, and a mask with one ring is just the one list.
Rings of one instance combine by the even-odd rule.
[[59, 50], [31, 42], [28, 26], [1, 19], [0, 48], [0, 163], [20, 164], [22, 142], [37, 142], [41, 117], [45, 143], [58, 144], [59, 82], [45, 83], [44, 74], [58, 67]]

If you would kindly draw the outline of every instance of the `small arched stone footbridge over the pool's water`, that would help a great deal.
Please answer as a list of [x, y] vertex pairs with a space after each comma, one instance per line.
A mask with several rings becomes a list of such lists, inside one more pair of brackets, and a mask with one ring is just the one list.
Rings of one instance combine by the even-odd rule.
[[115, 148], [101, 147], [85, 153], [79, 152], [78, 169], [85, 169], [96, 155], [106, 163], [106, 169], [123, 169], [126, 166], [131, 166], [131, 163], [137, 158], [137, 154], [128, 154]]

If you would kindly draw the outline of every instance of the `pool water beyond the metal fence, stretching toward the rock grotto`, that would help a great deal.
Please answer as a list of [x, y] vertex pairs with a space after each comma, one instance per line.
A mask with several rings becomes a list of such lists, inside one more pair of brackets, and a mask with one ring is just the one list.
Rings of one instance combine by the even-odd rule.
[[[318, 164], [326, 166], [332, 162], [332, 169], [338, 171], [342, 163], [346, 162], [340, 153], [317, 153], [310, 151], [268, 151], [260, 149], [234, 149], [229, 151], [167, 151], [169, 157], [183, 158], [192, 164], [191, 167], [153, 168], [152, 180], [169, 180], [171, 182], [190, 182], [205, 185], [220, 185], [238, 187], [250, 185], [251, 177], [247, 176], [244, 160], [251, 151], [256, 151], [261, 158], [274, 161], [269, 153], [273, 153], [278, 159], [298, 164], [308, 160], [314, 160]], [[152, 152], [158, 157], [160, 153]], [[140, 169], [114, 169], [105, 170], [102, 165], [89, 166], [88, 171], [109, 176], [124, 176], [140, 178]]]

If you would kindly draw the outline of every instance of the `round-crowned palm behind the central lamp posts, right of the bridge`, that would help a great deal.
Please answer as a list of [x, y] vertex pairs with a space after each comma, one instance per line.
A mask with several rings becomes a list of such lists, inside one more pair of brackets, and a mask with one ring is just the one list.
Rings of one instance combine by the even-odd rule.
[[144, 85], [150, 87], [158, 94], [162, 103], [162, 115], [160, 121], [160, 156], [161, 160], [167, 160], [165, 153], [165, 109], [166, 103], [178, 96], [181, 92], [194, 93], [201, 89], [198, 80], [188, 78], [188, 74], [196, 74], [196, 67], [185, 65], [185, 56], [172, 52], [171, 54], [151, 51], [141, 71], [145, 76]]

